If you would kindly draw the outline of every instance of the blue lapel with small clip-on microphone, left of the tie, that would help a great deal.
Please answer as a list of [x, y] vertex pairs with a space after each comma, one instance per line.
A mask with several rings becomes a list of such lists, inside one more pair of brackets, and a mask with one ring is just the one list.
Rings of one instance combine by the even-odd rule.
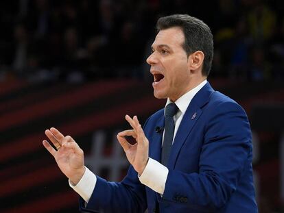
[[[164, 114], [161, 116], [161, 118], [158, 119], [158, 122], [156, 123], [156, 127], [163, 128], [165, 125], [165, 117]], [[161, 162], [161, 146], [162, 146], [162, 137], [163, 137], [163, 130], [160, 132], [156, 132], [155, 129], [153, 129], [153, 137], [152, 137], [152, 145], [149, 149], [149, 155], [150, 158], [153, 158], [154, 160], [157, 160], [158, 162]]]

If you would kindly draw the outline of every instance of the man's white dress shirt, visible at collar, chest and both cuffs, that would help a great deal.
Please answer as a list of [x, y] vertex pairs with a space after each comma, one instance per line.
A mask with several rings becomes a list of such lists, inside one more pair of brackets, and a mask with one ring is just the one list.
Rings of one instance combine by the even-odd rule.
[[[182, 95], [178, 100], [176, 100], [176, 105], [178, 106], [178, 112], [174, 116], [174, 122], [175, 122], [175, 129], [174, 129], [174, 138], [176, 136], [176, 132], [178, 131], [178, 127], [180, 126], [180, 122], [182, 121], [182, 118], [185, 114], [185, 111], [187, 110], [189, 103], [193, 99], [193, 97], [196, 95], [196, 93], [206, 84], [207, 80], [205, 79], [204, 82], [190, 90], [189, 92], [185, 93], [185, 95]], [[171, 103], [169, 99], [167, 99], [166, 106]], [[163, 140], [164, 140], [164, 134], [163, 133]], [[173, 140], [174, 142], [174, 140]], [[145, 186], [148, 186], [155, 192], [160, 193], [163, 195], [165, 191], [165, 182], [167, 181], [167, 175], [169, 173], [169, 170], [166, 166], [161, 164], [160, 162], [149, 158], [147, 165], [139, 177], [139, 180], [142, 184]], [[97, 177], [94, 173], [92, 173], [88, 168], [86, 168], [86, 171], [78, 182], [76, 186], [74, 186], [71, 181], [69, 180], [69, 186], [75, 190], [75, 192], [78, 192], [78, 194], [88, 203], [89, 199], [91, 198], [91, 195], [93, 193], [93, 190], [95, 188], [95, 184], [97, 182]]]

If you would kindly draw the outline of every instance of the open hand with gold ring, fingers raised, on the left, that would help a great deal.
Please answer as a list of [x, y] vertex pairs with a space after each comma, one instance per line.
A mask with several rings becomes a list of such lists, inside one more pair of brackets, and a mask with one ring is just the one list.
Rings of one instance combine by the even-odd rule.
[[84, 152], [71, 136], [63, 136], [60, 131], [52, 127], [45, 130], [45, 135], [56, 147], [51, 147], [47, 140], [43, 140], [43, 145], [54, 156], [58, 167], [73, 184], [78, 184], [85, 172]]

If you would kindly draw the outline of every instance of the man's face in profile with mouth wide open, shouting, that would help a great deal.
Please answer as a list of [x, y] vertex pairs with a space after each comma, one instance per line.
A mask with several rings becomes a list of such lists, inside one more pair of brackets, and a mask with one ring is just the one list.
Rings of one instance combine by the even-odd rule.
[[154, 96], [176, 101], [189, 90], [190, 71], [187, 53], [182, 48], [185, 36], [180, 27], [158, 32], [152, 44], [152, 54], [147, 58], [154, 76]]

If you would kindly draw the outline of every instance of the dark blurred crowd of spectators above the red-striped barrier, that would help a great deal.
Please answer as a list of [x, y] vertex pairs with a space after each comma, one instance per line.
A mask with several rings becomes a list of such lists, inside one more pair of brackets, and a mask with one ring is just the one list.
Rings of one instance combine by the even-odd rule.
[[0, 1], [0, 81], [145, 78], [156, 20], [174, 13], [211, 27], [212, 77], [283, 80], [283, 8], [281, 0]]

